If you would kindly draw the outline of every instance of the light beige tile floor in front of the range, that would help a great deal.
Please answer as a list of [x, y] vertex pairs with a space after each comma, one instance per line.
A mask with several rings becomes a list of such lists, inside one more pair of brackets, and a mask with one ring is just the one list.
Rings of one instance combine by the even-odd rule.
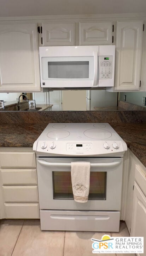
[[[103, 232], [41, 231], [40, 220], [1, 220], [0, 256], [92, 256], [91, 238], [101, 239], [104, 234]], [[120, 223], [119, 233], [106, 232], [106, 234], [129, 236], [124, 222]], [[135, 254], [109, 255], [136, 256]]]

